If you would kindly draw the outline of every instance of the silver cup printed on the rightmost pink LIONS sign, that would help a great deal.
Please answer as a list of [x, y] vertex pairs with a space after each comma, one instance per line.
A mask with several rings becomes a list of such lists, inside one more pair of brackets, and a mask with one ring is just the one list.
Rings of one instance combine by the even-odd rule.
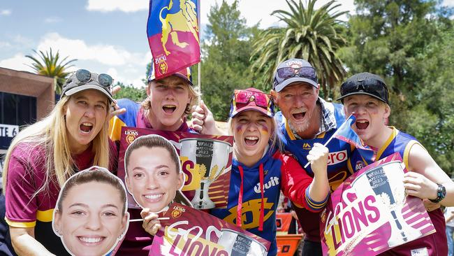
[[418, 229], [408, 225], [402, 216], [406, 198], [403, 179], [402, 162], [393, 161], [366, 171], [352, 184], [358, 197], [375, 194], [380, 207], [390, 213], [391, 236], [388, 246], [391, 248], [413, 241], [421, 234]]

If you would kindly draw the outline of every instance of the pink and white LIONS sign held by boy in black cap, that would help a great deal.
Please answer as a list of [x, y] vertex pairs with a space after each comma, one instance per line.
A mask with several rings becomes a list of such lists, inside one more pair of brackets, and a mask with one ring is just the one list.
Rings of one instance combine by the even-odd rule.
[[347, 178], [321, 213], [323, 255], [377, 255], [435, 232], [423, 201], [407, 196], [399, 153]]

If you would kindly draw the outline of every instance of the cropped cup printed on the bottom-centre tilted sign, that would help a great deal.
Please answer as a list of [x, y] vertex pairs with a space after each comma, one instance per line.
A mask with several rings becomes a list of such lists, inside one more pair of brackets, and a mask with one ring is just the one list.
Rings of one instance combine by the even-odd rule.
[[264, 256], [267, 251], [263, 244], [232, 229], [221, 229], [218, 244], [225, 246], [230, 256]]

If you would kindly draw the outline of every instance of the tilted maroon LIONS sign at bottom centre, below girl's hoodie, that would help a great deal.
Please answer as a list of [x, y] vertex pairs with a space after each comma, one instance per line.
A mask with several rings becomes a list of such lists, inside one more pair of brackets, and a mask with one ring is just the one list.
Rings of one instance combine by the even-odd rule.
[[208, 213], [172, 204], [149, 255], [263, 256], [270, 242]]

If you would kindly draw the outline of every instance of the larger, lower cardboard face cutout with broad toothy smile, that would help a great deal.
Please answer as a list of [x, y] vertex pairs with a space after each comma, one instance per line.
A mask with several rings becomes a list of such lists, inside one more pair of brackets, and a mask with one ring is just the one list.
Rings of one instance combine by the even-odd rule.
[[129, 226], [126, 190], [107, 169], [93, 166], [66, 180], [52, 229], [71, 255], [107, 255]]

